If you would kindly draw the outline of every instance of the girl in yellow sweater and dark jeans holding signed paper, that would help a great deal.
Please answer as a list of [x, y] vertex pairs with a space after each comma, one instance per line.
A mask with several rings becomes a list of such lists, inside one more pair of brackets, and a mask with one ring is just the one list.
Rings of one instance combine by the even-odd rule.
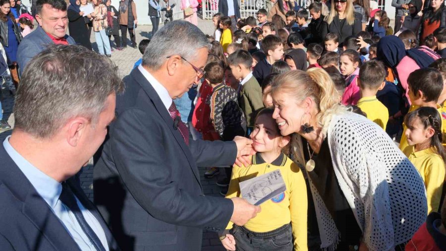
[[[234, 166], [226, 198], [240, 197], [239, 183], [280, 170], [286, 190], [262, 203], [262, 211], [244, 226], [231, 222], [219, 233], [227, 250], [308, 250], [307, 248], [307, 188], [300, 168], [282, 151], [289, 136], [281, 136], [273, 117], [274, 108], [259, 112], [251, 139], [256, 154], [247, 167]], [[279, 247], [278, 247], [279, 246]]]

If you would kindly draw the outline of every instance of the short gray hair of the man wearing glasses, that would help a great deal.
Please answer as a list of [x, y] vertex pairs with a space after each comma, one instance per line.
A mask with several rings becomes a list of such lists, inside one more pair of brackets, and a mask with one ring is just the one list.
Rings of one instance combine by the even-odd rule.
[[155, 33], [146, 48], [142, 64], [158, 70], [169, 56], [180, 55], [192, 60], [197, 50], [209, 46], [206, 35], [197, 26], [183, 20], [172, 21]]

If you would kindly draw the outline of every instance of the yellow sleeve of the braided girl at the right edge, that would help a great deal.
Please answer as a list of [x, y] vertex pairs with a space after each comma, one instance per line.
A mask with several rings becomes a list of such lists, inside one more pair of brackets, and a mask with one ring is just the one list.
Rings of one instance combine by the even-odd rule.
[[443, 183], [445, 182], [445, 164], [440, 156], [429, 159], [424, 169], [424, 183], [428, 203], [428, 214], [437, 212], [442, 198]]

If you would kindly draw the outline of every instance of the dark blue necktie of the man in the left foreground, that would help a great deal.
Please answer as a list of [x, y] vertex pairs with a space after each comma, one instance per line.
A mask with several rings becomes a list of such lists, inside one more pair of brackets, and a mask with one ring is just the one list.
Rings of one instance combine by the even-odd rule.
[[99, 237], [95, 234], [93, 229], [91, 229], [90, 225], [88, 225], [87, 221], [85, 220], [84, 215], [82, 214], [79, 206], [77, 205], [74, 193], [71, 191], [66, 182], [62, 183], [62, 192], [60, 193], [59, 200], [62, 201], [62, 203], [65, 204], [65, 206], [67, 206], [71, 212], [73, 212], [77, 222], [81, 226], [85, 235], [87, 235], [90, 242], [93, 244], [93, 246], [95, 246], [96, 250], [106, 251], [101, 243], [101, 240], [99, 240]]

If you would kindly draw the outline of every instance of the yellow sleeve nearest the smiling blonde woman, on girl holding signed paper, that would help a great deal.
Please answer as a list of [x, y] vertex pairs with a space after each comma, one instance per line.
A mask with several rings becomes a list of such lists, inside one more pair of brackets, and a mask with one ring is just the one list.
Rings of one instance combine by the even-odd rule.
[[307, 186], [302, 171], [296, 164], [289, 171], [289, 211], [293, 232], [294, 250], [308, 251], [307, 246]]

